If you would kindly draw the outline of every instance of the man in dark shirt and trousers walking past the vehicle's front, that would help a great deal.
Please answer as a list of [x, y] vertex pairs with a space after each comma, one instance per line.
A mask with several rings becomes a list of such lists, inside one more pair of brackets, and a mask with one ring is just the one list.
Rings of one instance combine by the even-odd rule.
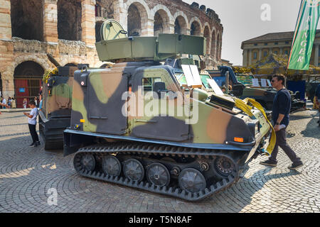
[[291, 96], [288, 90], [284, 88], [284, 75], [274, 74], [271, 83], [272, 87], [278, 91], [274, 96], [272, 107], [272, 121], [274, 123], [274, 131], [276, 131], [277, 141], [269, 160], [260, 162], [260, 164], [272, 167], [277, 166], [277, 154], [280, 147], [292, 161], [292, 165], [288, 168], [290, 170], [296, 170], [297, 168], [302, 167], [303, 163], [289, 147], [286, 140], [286, 128], [289, 125], [289, 112], [291, 109]]

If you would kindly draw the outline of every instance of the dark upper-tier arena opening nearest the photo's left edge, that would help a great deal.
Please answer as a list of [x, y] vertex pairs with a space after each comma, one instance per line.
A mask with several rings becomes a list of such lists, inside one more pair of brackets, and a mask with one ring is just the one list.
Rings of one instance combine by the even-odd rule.
[[43, 6], [38, 0], [11, 0], [13, 37], [43, 41]]

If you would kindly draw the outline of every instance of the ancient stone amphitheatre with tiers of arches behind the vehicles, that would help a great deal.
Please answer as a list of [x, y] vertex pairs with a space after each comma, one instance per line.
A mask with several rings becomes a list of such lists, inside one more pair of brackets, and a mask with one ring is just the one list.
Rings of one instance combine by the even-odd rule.
[[0, 91], [2, 96], [38, 94], [45, 70], [60, 65], [101, 67], [95, 50], [108, 18], [128, 35], [159, 33], [206, 38], [206, 65], [220, 64], [223, 26], [206, 6], [181, 0], [0, 0]]

